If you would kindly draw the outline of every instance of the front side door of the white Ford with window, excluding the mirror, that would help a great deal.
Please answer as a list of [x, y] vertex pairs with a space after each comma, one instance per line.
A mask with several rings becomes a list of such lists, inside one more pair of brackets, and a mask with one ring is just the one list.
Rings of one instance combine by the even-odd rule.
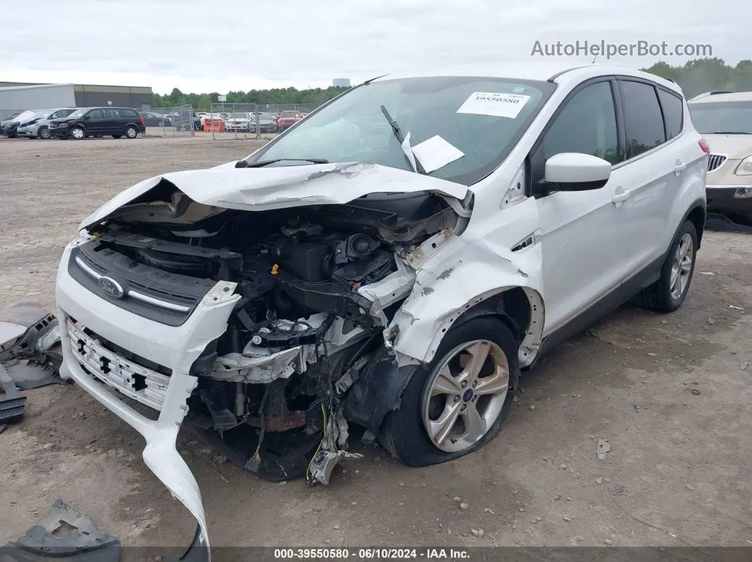
[[538, 200], [546, 321], [544, 336], [557, 341], [611, 311], [635, 251], [625, 232], [622, 203], [614, 200], [629, 185], [623, 167], [608, 183], [589, 191], [542, 191], [545, 162], [562, 152], [581, 152], [618, 164], [623, 142], [617, 125], [614, 83], [608, 79], [578, 86], [553, 117], [530, 155], [532, 194]]

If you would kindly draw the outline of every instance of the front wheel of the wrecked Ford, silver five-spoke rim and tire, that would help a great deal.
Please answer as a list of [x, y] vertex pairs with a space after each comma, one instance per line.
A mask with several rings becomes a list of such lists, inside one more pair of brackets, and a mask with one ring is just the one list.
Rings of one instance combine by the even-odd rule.
[[498, 318], [456, 326], [430, 365], [409, 381], [399, 409], [384, 422], [381, 444], [415, 467], [480, 449], [496, 437], [511, 409], [520, 377], [517, 349]]

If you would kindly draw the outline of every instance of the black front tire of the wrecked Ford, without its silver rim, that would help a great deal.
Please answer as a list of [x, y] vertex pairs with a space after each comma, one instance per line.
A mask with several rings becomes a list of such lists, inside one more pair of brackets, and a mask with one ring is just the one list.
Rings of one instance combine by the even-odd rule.
[[[464, 342], [475, 340], [492, 341], [501, 347], [509, 368], [508, 392], [496, 421], [488, 431], [471, 446], [456, 452], [445, 452], [429, 438], [423, 425], [423, 404], [427, 383], [432, 379], [434, 370], [440, 367]], [[427, 368], [419, 368], [411, 378], [405, 392], [402, 393], [400, 407], [390, 412], [379, 434], [379, 441], [396, 458], [412, 467], [423, 467], [451, 461], [480, 449], [496, 437], [507, 419], [513, 404], [514, 392], [520, 380], [520, 366], [517, 357], [518, 344], [509, 327], [495, 317], [480, 317], [455, 326], [444, 336], [436, 351], [433, 361]]]

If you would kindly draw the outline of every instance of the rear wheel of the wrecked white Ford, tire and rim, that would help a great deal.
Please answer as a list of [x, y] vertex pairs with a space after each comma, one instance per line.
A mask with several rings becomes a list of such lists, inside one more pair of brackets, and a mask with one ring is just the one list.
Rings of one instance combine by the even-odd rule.
[[697, 230], [692, 221], [681, 225], [666, 254], [658, 281], [640, 294], [645, 308], [673, 312], [684, 302], [690, 290], [697, 258]]

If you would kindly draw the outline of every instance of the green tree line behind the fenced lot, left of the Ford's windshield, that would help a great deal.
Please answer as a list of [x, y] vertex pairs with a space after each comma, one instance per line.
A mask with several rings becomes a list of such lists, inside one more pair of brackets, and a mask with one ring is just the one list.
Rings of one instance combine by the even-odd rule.
[[[250, 90], [248, 92], [227, 92], [226, 104], [323, 104], [344, 92], [347, 88], [329, 86], [329, 88], [274, 88], [269, 90]], [[212, 103], [217, 103], [217, 92], [208, 94], [186, 94], [174, 88], [168, 95], [154, 94], [154, 107], [176, 107], [190, 104], [196, 111], [208, 111]]]

